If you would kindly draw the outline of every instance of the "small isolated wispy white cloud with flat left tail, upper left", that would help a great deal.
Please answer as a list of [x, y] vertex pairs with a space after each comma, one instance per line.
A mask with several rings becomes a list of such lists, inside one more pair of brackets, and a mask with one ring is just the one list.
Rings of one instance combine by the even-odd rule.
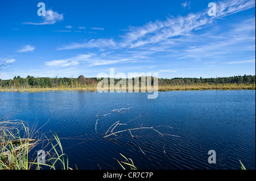
[[56, 22], [61, 22], [64, 17], [63, 14], [58, 14], [56, 11], [47, 10], [45, 16], [41, 16], [43, 18], [43, 22], [32, 23], [32, 22], [24, 22], [23, 24], [33, 24], [33, 25], [44, 25], [44, 24], [55, 24]]

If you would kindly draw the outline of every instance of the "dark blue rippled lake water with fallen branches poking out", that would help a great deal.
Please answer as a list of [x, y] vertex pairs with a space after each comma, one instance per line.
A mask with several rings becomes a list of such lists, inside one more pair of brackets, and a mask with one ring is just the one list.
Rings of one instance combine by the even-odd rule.
[[[15, 109], [9, 119], [31, 126], [36, 122], [38, 128], [47, 123], [40, 132], [48, 137], [57, 133], [73, 169], [75, 164], [78, 169], [122, 169], [113, 159], [123, 161], [119, 153], [138, 169], [241, 169], [239, 160], [255, 169], [255, 91], [170, 91], [159, 92], [157, 99], [147, 95], [0, 92], [0, 116]], [[113, 126], [113, 132], [140, 127], [156, 131], [102, 138], [117, 121], [123, 125]], [[215, 164], [208, 163], [209, 150], [216, 151]]]

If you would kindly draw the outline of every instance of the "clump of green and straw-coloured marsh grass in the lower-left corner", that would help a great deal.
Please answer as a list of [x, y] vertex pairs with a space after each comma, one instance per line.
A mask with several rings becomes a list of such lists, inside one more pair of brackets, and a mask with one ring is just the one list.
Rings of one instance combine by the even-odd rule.
[[[71, 169], [57, 134], [47, 138], [39, 133], [40, 128], [36, 129], [37, 124], [29, 128], [23, 121], [9, 120], [8, 116], [0, 119], [0, 170]], [[46, 163], [39, 162], [35, 147], [40, 145], [48, 150]]]

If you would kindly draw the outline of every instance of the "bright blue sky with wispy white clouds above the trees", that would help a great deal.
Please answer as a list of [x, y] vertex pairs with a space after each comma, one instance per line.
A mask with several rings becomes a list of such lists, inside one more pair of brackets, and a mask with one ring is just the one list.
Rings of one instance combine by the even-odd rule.
[[[46, 16], [38, 16], [39, 2]], [[208, 3], [216, 3], [209, 16]], [[0, 78], [255, 75], [255, 1], [1, 1]]]

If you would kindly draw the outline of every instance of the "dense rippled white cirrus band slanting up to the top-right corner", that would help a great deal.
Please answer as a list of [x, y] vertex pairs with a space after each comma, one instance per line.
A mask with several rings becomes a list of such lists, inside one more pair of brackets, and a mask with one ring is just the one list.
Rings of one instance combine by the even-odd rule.
[[141, 27], [131, 27], [123, 37], [124, 46], [131, 48], [147, 44], [159, 43], [172, 37], [189, 35], [193, 31], [208, 27], [214, 20], [223, 18], [236, 12], [255, 7], [255, 1], [222, 1], [217, 2], [217, 15], [209, 16], [208, 11], [191, 13], [187, 16], [177, 16], [166, 20], [156, 20]]

